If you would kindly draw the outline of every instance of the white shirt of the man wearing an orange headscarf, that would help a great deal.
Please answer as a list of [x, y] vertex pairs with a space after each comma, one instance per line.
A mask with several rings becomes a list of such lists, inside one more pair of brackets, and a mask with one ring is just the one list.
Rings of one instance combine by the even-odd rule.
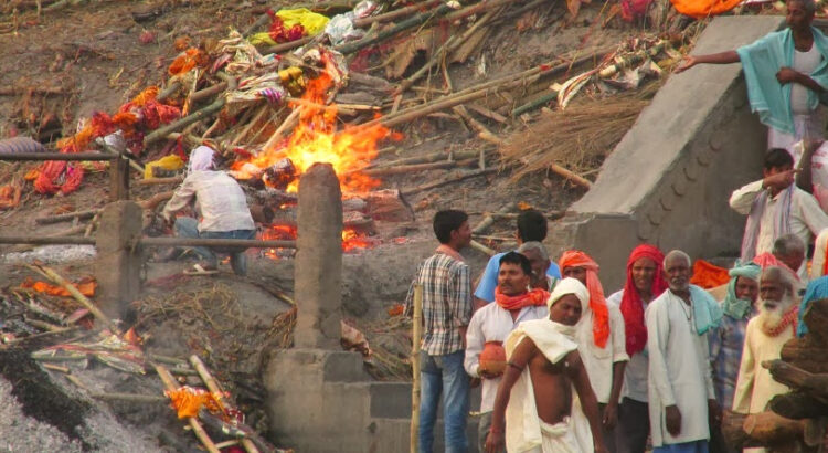
[[609, 309], [609, 337], [606, 345], [599, 348], [593, 337], [593, 312], [587, 309], [575, 325], [575, 341], [581, 360], [590, 377], [592, 390], [599, 403], [609, 402], [613, 390], [613, 365], [629, 360], [627, 356], [626, 336], [624, 335], [624, 317], [618, 307], [607, 302]]

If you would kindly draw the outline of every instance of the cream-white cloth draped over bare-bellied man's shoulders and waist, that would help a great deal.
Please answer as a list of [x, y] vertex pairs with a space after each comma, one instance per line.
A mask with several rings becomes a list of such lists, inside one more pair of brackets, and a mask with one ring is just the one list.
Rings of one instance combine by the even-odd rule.
[[[571, 334], [567, 330], [572, 328], [549, 318], [521, 323], [503, 345], [506, 357], [511, 357], [520, 341], [529, 337], [546, 360], [558, 364], [567, 354], [577, 349], [577, 345], [573, 341], [574, 331]], [[526, 367], [518, 381], [514, 382], [509, 396], [509, 404], [506, 407], [506, 450], [510, 453], [567, 452], [565, 449], [573, 444], [573, 439], [578, 445], [577, 452], [593, 451], [590, 423], [581, 409], [574, 386], [570, 417], [562, 423], [549, 425], [538, 417], [532, 378], [529, 375], [529, 367]]]

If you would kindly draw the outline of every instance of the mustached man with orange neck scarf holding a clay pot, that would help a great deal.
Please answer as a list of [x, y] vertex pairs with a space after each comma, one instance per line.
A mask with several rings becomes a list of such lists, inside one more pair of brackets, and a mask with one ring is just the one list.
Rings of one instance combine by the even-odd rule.
[[495, 304], [487, 304], [475, 312], [466, 333], [466, 372], [482, 379], [480, 398], [480, 422], [478, 423], [479, 450], [486, 450], [486, 436], [491, 428], [491, 411], [495, 407], [500, 378], [506, 366], [502, 343], [522, 322], [544, 319], [549, 316], [543, 289], [529, 289], [532, 267], [529, 259], [509, 252], [500, 259]]

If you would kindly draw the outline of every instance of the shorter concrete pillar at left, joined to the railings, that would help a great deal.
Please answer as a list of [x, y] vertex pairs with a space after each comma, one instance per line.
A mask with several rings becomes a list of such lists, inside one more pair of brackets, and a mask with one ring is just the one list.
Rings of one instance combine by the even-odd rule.
[[132, 241], [141, 234], [141, 212], [132, 201], [117, 201], [100, 213], [100, 228], [95, 234], [96, 301], [112, 318], [123, 318], [140, 292], [144, 260], [140, 247], [132, 251]]

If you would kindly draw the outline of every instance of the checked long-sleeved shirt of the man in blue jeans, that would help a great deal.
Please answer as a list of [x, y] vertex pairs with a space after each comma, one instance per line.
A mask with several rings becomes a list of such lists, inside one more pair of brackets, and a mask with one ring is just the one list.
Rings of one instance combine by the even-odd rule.
[[423, 285], [423, 340], [421, 348], [429, 356], [463, 350], [459, 327], [471, 319], [471, 280], [468, 265], [443, 253], [436, 253], [417, 266], [417, 273], [405, 298], [405, 313], [413, 312], [414, 285]]

